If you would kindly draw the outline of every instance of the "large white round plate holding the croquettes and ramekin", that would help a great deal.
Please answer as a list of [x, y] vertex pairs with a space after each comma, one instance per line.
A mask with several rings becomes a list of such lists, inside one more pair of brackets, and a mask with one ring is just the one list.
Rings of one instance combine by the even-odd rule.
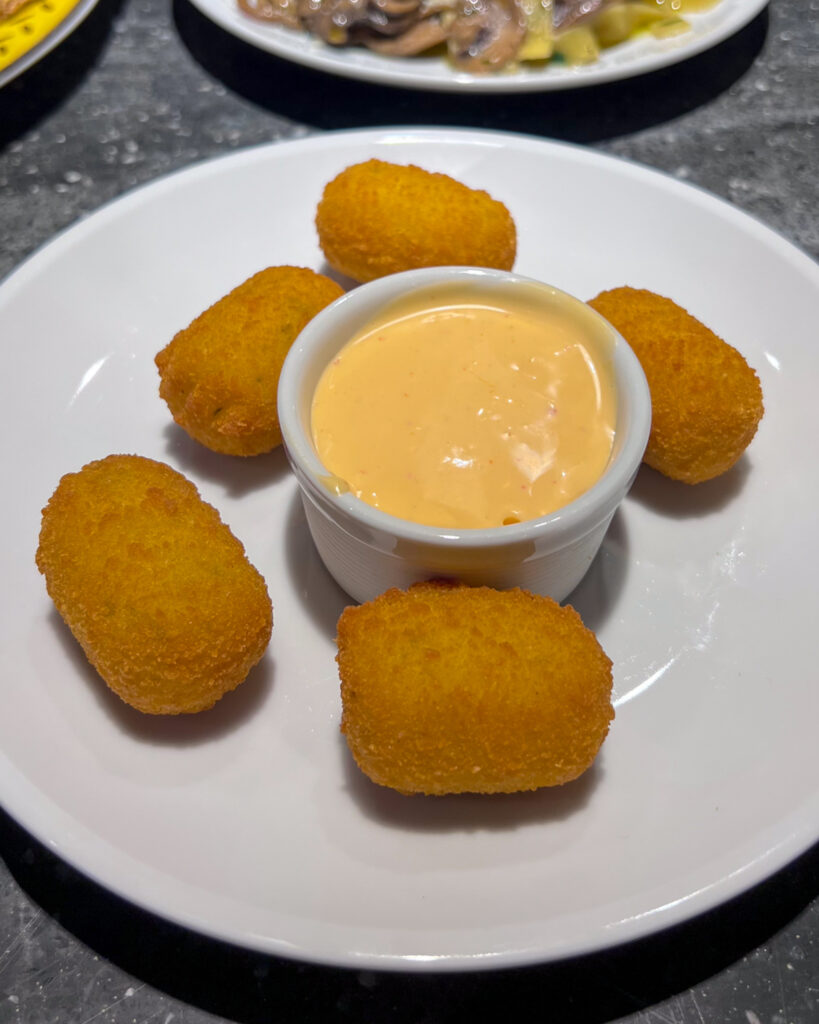
[[[699, 487], [642, 470], [571, 601], [614, 663], [596, 766], [556, 791], [405, 798], [339, 733], [347, 602], [281, 451], [210, 453], [170, 420], [154, 355], [256, 270], [324, 267], [324, 184], [378, 156], [487, 188], [516, 269], [581, 297], [676, 298], [760, 374], [742, 461]], [[441, 225], [446, 229], [445, 223]], [[102, 885], [203, 933], [349, 966], [526, 964], [714, 906], [819, 838], [815, 612], [819, 268], [713, 197], [572, 146], [374, 130], [251, 150], [77, 224], [0, 287], [0, 802]], [[269, 652], [212, 712], [154, 719], [87, 666], [34, 564], [59, 477], [133, 452], [187, 474], [267, 580]]]

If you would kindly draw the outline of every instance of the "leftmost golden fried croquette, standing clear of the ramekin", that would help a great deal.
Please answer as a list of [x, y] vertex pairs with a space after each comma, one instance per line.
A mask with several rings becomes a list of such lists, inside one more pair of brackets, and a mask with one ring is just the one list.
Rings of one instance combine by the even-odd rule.
[[245, 549], [185, 479], [113, 455], [62, 477], [37, 567], [91, 665], [152, 715], [204, 711], [245, 679], [272, 608]]

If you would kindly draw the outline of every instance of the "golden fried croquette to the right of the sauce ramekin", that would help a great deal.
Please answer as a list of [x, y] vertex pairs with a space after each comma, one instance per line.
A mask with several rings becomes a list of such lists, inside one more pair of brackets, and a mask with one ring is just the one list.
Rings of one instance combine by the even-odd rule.
[[626, 338], [651, 391], [644, 462], [700, 483], [729, 470], [764, 413], [759, 378], [742, 355], [671, 299], [635, 288], [589, 303]]

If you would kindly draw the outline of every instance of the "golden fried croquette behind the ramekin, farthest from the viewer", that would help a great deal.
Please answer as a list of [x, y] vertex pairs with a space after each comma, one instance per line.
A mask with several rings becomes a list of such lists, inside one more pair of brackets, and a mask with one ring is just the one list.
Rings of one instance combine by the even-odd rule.
[[331, 266], [372, 281], [422, 266], [511, 270], [517, 236], [509, 210], [446, 174], [369, 160], [342, 171], [316, 211]]

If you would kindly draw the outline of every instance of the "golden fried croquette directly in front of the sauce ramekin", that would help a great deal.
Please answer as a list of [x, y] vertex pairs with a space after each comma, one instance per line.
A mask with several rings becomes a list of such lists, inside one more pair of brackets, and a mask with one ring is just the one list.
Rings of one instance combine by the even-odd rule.
[[560, 785], [614, 717], [611, 662], [576, 611], [523, 590], [389, 590], [338, 624], [342, 731], [401, 793]]

